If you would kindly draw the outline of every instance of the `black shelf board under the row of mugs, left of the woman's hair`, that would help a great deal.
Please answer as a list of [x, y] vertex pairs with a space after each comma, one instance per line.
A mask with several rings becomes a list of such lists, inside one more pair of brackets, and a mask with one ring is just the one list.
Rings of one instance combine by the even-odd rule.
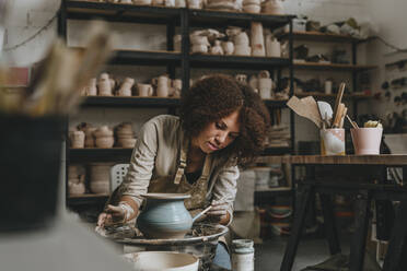
[[89, 96], [82, 104], [83, 107], [177, 107], [179, 98], [161, 97], [106, 97]]

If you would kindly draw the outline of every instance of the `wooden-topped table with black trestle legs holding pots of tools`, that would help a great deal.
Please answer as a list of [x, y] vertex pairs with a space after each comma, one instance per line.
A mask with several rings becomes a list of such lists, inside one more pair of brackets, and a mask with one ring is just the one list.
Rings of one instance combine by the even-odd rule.
[[[407, 180], [407, 155], [296, 155], [264, 156], [259, 163], [291, 163], [319, 168], [313, 177], [307, 176], [299, 184], [298, 209], [295, 210], [291, 236], [280, 270], [291, 270], [300, 241], [305, 214], [310, 201], [319, 193], [326, 237], [332, 255], [340, 252], [333, 212], [330, 195], [348, 193], [356, 197], [356, 232], [350, 246], [350, 271], [363, 270], [364, 249], [369, 226], [369, 211], [372, 200], [400, 201], [393, 229], [391, 231], [388, 250], [383, 270], [406, 270], [407, 267], [407, 187], [385, 182], [387, 167], [402, 167], [403, 180]], [[345, 168], [348, 168], [346, 170]], [[339, 169], [335, 172], [335, 169]], [[345, 177], [348, 174], [348, 179]], [[364, 181], [360, 181], [364, 180]], [[402, 182], [403, 184], [403, 182]], [[384, 221], [384, 223], [386, 223]]]

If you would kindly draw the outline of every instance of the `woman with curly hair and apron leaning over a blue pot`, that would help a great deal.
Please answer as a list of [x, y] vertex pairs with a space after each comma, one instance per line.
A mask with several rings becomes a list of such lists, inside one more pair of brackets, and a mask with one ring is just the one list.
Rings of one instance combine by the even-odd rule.
[[207, 76], [185, 93], [181, 116], [149, 120], [137, 140], [128, 174], [109, 199], [98, 225], [127, 222], [139, 213], [141, 195], [182, 192], [185, 207], [229, 225], [237, 166], [263, 151], [269, 113], [260, 97], [225, 75]]

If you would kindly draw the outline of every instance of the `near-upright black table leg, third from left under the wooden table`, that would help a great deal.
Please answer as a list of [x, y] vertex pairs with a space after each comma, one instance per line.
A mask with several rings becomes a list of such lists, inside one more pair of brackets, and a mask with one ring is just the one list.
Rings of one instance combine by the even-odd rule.
[[349, 271], [363, 270], [364, 249], [367, 244], [370, 202], [368, 191], [362, 191], [356, 200], [354, 234], [350, 247]]

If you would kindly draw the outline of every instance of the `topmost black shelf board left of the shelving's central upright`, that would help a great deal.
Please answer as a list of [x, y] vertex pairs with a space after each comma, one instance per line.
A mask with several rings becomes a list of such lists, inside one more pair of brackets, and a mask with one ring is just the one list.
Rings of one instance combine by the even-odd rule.
[[103, 19], [109, 22], [179, 24], [181, 10], [150, 5], [120, 4], [91, 1], [65, 1], [67, 19]]

